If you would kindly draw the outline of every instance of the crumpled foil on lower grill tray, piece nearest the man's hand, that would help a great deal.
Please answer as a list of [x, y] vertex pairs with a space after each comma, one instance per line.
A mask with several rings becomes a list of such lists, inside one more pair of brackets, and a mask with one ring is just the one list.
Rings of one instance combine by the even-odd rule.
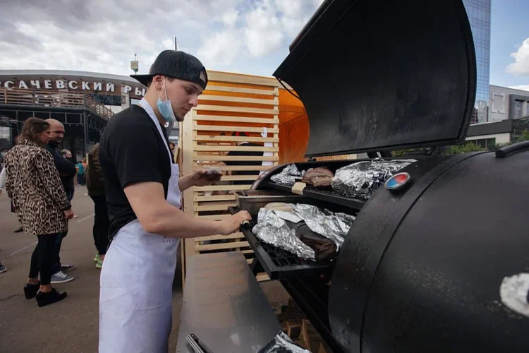
[[252, 229], [255, 236], [267, 244], [286, 250], [299, 258], [316, 261], [314, 250], [296, 237], [296, 231], [288, 228], [274, 211], [261, 208], [257, 216], [257, 225]]

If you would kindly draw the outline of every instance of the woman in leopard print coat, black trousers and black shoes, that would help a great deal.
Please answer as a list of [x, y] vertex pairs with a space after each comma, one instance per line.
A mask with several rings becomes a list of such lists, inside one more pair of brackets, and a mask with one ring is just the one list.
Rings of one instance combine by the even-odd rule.
[[39, 306], [66, 297], [66, 293], [51, 288], [51, 267], [57, 234], [68, 229], [68, 219], [73, 217], [53, 157], [44, 148], [49, 134], [47, 121], [28, 119], [19, 142], [7, 152], [5, 159], [6, 191], [18, 220], [25, 232], [39, 239], [24, 287], [25, 297], [37, 297]]

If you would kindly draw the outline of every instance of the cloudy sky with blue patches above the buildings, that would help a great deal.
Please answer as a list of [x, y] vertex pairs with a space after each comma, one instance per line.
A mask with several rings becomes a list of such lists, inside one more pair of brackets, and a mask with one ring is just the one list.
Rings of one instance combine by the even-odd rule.
[[[271, 76], [323, 0], [0, 0], [0, 69], [146, 73], [163, 49]], [[492, 0], [490, 84], [529, 90], [529, 1]]]

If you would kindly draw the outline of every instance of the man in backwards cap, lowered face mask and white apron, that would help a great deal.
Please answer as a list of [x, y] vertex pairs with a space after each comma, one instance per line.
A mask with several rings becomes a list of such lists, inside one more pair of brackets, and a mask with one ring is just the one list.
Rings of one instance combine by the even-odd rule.
[[166, 129], [197, 106], [207, 73], [190, 54], [166, 50], [148, 75], [138, 105], [116, 114], [99, 143], [111, 239], [99, 296], [99, 352], [164, 352], [171, 332], [171, 297], [179, 239], [231, 234], [251, 217], [222, 221], [180, 210], [181, 191], [220, 179], [203, 169], [179, 177]]

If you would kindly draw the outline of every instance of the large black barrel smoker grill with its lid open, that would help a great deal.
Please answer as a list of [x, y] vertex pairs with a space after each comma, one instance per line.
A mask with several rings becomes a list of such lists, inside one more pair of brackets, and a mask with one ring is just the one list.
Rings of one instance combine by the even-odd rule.
[[[461, 143], [475, 99], [461, 0], [325, 1], [274, 73], [310, 120], [308, 157]], [[305, 265], [243, 229], [260, 265], [334, 352], [529, 352], [529, 317], [502, 304], [504, 277], [529, 273], [528, 145], [428, 157], [410, 185], [369, 201], [305, 189], [357, 215], [334, 265]], [[348, 162], [325, 165], [335, 171]], [[290, 192], [272, 183], [256, 190]], [[330, 285], [329, 285], [330, 282]]]

